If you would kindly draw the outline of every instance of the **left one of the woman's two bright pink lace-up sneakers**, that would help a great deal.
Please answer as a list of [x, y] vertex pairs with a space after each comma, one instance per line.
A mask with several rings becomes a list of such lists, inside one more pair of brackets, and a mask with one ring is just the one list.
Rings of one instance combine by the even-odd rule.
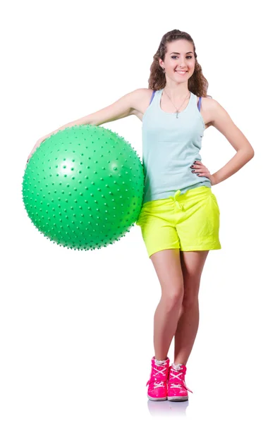
[[[150, 379], [147, 381], [149, 384], [147, 397], [152, 401], [167, 400], [167, 378], [169, 371], [169, 357], [166, 360], [155, 360], [152, 357], [152, 371]], [[147, 386], [146, 384], [146, 386]]]

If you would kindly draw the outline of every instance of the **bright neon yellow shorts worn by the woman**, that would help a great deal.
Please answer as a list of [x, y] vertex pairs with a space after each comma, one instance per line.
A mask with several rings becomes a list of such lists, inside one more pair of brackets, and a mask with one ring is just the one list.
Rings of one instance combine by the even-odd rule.
[[220, 250], [219, 205], [209, 187], [193, 188], [164, 200], [145, 202], [136, 221], [147, 253]]

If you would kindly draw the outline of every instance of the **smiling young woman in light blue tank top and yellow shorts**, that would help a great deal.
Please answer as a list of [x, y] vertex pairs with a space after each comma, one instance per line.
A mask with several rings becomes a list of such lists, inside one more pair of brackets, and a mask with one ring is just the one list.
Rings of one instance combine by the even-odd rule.
[[[101, 125], [133, 114], [142, 121], [145, 190], [136, 224], [162, 288], [154, 314], [147, 396], [150, 400], [188, 400], [185, 372], [199, 323], [200, 278], [209, 250], [221, 248], [219, 205], [212, 185], [236, 173], [252, 159], [254, 150], [219, 102], [207, 96], [208, 83], [190, 35], [180, 30], [167, 32], [150, 71], [149, 88], [130, 92], [58, 130]], [[210, 125], [236, 150], [213, 174], [200, 157], [202, 137]], [[51, 134], [37, 141], [28, 159]], [[174, 336], [174, 362], [169, 366]]]

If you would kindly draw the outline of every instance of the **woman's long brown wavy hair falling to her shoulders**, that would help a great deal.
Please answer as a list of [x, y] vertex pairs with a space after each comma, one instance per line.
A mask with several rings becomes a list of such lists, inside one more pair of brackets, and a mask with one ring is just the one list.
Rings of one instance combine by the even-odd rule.
[[[188, 90], [197, 95], [197, 97], [211, 97], [207, 95], [208, 82], [202, 73], [202, 67], [197, 61], [197, 54], [195, 52], [195, 43], [193, 38], [187, 32], [180, 30], [172, 30], [166, 32], [159, 43], [157, 53], [154, 54], [154, 60], [150, 67], [150, 78], [148, 79], [149, 88], [151, 90], [161, 90], [166, 85], [165, 73], [162, 71], [162, 67], [159, 65], [159, 59], [164, 61], [167, 52], [167, 43], [175, 41], [176, 39], [185, 39], [193, 44], [193, 51], [195, 54], [195, 71], [188, 80]], [[211, 97], [212, 98], [212, 97]]]

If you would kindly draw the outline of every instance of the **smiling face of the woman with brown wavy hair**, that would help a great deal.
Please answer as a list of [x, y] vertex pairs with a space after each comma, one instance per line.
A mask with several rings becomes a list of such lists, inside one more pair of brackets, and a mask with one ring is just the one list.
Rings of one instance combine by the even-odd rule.
[[[195, 71], [193, 44], [185, 39], [177, 39], [167, 44], [165, 59], [159, 59], [159, 65], [165, 68], [166, 78], [176, 82], [187, 82]], [[183, 73], [178, 73], [182, 69]]]

